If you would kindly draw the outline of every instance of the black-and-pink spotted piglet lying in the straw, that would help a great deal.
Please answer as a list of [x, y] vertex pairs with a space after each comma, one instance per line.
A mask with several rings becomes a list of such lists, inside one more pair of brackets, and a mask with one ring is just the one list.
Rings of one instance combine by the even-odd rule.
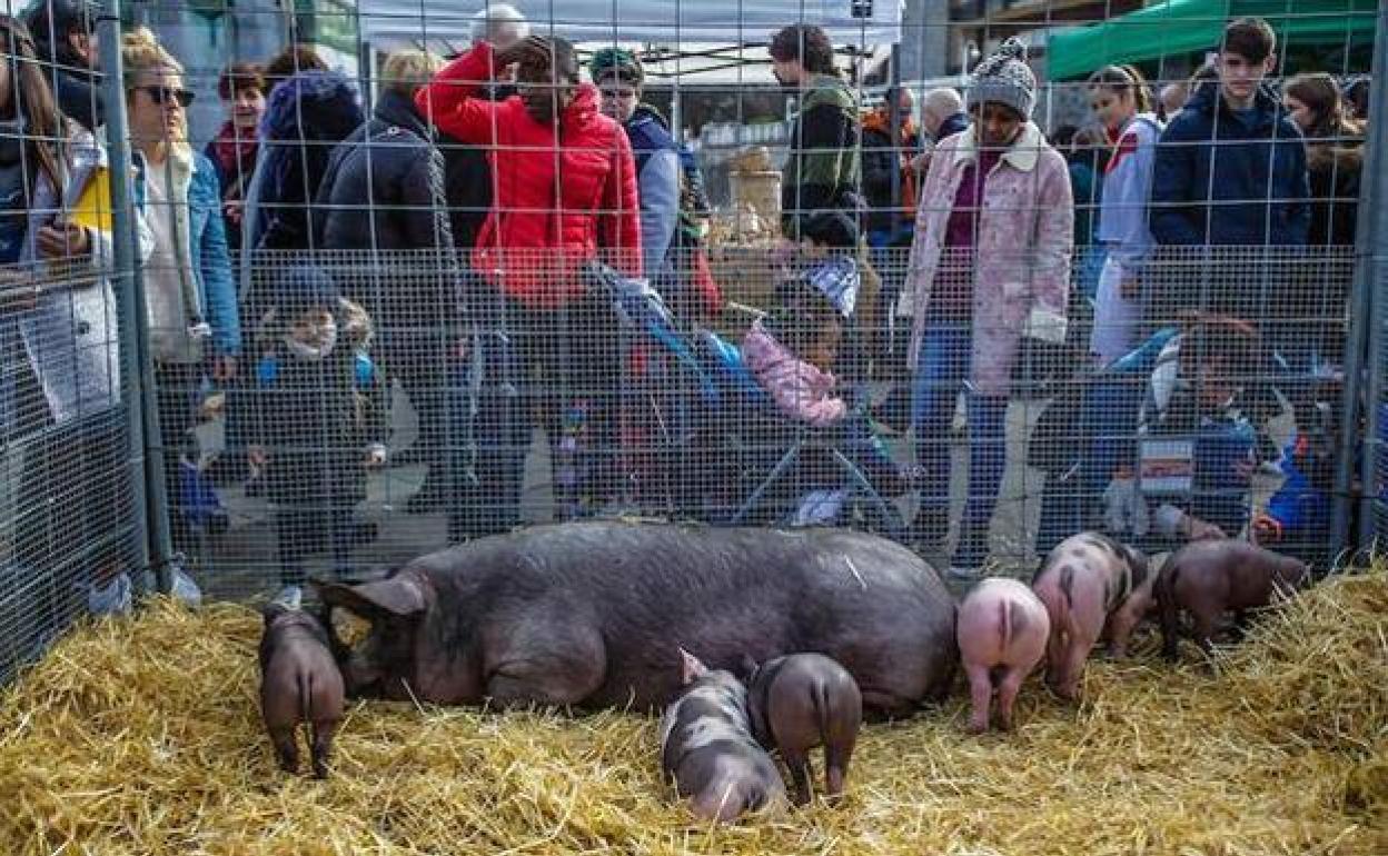
[[661, 766], [702, 820], [731, 823], [745, 812], [779, 812], [786, 785], [747, 720], [747, 688], [680, 649], [684, 691], [661, 720]]

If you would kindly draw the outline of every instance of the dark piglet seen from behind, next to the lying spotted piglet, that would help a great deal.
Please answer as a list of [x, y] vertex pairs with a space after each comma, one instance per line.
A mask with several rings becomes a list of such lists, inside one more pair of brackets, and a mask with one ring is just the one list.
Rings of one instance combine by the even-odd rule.
[[809, 751], [815, 746], [824, 746], [824, 792], [843, 794], [863, 719], [863, 696], [854, 676], [837, 660], [822, 653], [793, 653], [755, 666], [747, 680], [747, 714], [758, 742], [779, 749], [790, 767], [795, 805], [809, 802]]

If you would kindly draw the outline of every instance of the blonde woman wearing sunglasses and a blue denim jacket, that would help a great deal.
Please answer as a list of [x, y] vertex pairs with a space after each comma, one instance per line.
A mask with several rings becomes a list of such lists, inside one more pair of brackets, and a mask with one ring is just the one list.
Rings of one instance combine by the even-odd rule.
[[215, 382], [236, 376], [240, 319], [217, 168], [187, 142], [185, 108], [193, 93], [183, 86], [183, 67], [144, 28], [126, 33], [121, 57], [136, 200], [154, 236], [143, 269], [144, 304], [171, 526], [182, 548], [190, 533], [180, 508], [179, 455], [194, 423], [193, 395], [208, 361]]

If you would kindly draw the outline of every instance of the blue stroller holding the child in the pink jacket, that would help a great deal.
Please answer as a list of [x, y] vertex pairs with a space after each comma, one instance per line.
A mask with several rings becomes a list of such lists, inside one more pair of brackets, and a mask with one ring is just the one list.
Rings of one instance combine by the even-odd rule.
[[[847, 506], [874, 531], [905, 533], [899, 512], [851, 459], [849, 441], [783, 416], [737, 345], [682, 329], [640, 280], [608, 276], [604, 284], [629, 369], [619, 384], [622, 412], [643, 429], [637, 447], [650, 452], [637, 490], [644, 506], [729, 526], [844, 523]], [[806, 483], [812, 490], [798, 490]], [[838, 501], [824, 502], [827, 494]]]

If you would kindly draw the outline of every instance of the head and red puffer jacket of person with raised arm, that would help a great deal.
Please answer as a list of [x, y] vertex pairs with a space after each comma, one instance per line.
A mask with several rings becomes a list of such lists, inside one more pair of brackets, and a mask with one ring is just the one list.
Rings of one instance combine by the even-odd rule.
[[[494, 72], [519, 64], [519, 93], [483, 97]], [[573, 46], [530, 36], [504, 51], [479, 42], [419, 90], [419, 112], [458, 140], [487, 146], [496, 203], [473, 266], [508, 297], [554, 309], [583, 293], [577, 268], [602, 258], [641, 275], [636, 162], [622, 126], [579, 83]]]

